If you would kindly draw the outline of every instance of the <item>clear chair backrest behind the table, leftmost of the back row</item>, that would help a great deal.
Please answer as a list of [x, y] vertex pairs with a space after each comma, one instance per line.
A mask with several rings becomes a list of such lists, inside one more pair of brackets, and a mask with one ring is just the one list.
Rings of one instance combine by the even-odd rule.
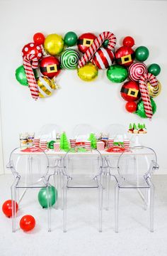
[[45, 124], [40, 128], [40, 131], [37, 132], [37, 137], [40, 137], [40, 139], [46, 139], [49, 140], [56, 140], [57, 134], [60, 134], [61, 128], [57, 124]]

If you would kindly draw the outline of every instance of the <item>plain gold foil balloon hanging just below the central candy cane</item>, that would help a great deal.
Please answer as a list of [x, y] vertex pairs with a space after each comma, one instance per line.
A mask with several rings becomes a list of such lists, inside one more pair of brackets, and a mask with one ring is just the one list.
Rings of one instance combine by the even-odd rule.
[[91, 82], [98, 76], [98, 68], [92, 63], [87, 63], [84, 67], [77, 70], [79, 78], [86, 82]]

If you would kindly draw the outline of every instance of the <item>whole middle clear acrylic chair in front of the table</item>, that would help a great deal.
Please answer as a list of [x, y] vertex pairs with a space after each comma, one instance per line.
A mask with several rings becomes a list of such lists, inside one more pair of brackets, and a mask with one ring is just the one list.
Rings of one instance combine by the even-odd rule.
[[[101, 205], [103, 189], [100, 183], [100, 174], [103, 170], [103, 158], [98, 150], [94, 150], [93, 153], [74, 153], [74, 151], [70, 149], [64, 156], [62, 163], [62, 175], [64, 180], [63, 231], [67, 232], [67, 190], [70, 188], [98, 188], [99, 207]], [[75, 171], [80, 177], [78, 181], [74, 178]], [[83, 178], [82, 174], [87, 177], [87, 181]], [[101, 210], [99, 208], [99, 230], [101, 227], [100, 214]]]

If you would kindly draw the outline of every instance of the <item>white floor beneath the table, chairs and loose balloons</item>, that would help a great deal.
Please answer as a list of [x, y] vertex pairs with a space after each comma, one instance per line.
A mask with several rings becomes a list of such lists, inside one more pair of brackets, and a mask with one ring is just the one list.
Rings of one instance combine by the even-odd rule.
[[[0, 205], [10, 198], [11, 175], [0, 176]], [[57, 256], [166, 256], [167, 176], [154, 176], [155, 231], [149, 232], [149, 212], [142, 208], [137, 191], [120, 193], [120, 232], [114, 232], [113, 189], [110, 210], [103, 213], [103, 233], [98, 233], [96, 189], [73, 189], [68, 193], [67, 233], [62, 232], [62, 210], [52, 209], [52, 232], [47, 233], [47, 211], [38, 203], [38, 191], [25, 195], [18, 220], [35, 217], [30, 233], [11, 233], [11, 219], [0, 212], [0, 255]], [[18, 227], [19, 228], [19, 227]]]

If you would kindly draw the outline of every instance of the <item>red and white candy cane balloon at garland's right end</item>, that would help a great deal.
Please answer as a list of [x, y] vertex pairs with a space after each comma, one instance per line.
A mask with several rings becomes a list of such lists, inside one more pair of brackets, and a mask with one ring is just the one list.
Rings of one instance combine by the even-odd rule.
[[152, 112], [151, 101], [149, 97], [149, 90], [147, 88], [148, 82], [150, 83], [151, 86], [156, 86], [158, 85], [159, 82], [156, 79], [156, 77], [151, 73], [146, 73], [142, 75], [141, 78], [139, 79], [139, 90], [142, 95], [146, 117], [151, 118], [153, 115], [153, 112]]

